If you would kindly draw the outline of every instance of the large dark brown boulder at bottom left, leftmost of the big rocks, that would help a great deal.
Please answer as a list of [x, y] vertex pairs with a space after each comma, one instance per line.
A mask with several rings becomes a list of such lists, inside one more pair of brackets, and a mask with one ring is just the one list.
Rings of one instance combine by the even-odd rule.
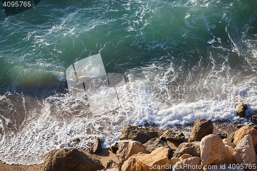
[[51, 150], [43, 163], [44, 171], [89, 171], [102, 168], [99, 160], [90, 158], [83, 153], [83, 150], [76, 148]]

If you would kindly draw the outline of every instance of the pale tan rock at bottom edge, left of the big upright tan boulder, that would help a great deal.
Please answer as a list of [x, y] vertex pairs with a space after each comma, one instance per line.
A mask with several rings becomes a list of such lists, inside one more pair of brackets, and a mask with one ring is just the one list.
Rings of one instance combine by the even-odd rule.
[[174, 165], [174, 171], [200, 171], [201, 159], [199, 157], [191, 157], [181, 160]]

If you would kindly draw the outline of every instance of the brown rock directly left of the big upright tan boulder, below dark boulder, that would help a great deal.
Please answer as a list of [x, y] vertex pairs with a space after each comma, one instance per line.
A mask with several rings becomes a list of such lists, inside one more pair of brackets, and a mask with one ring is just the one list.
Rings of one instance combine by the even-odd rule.
[[181, 143], [175, 150], [173, 157], [180, 157], [183, 154], [189, 154], [193, 157], [200, 157], [200, 142]]

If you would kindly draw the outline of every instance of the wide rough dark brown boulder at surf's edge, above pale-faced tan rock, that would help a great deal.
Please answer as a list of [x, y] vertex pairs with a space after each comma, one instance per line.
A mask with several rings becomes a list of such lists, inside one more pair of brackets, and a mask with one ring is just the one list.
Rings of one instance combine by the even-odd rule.
[[134, 140], [142, 144], [152, 138], [157, 138], [158, 132], [152, 128], [142, 128], [133, 125], [127, 125], [123, 128], [120, 140]]

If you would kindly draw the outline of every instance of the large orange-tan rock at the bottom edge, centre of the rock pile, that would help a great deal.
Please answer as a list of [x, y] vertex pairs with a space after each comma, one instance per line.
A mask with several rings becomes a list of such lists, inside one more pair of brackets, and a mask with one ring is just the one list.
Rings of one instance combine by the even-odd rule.
[[169, 150], [164, 147], [156, 148], [151, 154], [141, 157], [136, 162], [137, 171], [164, 171], [166, 170], [166, 164], [169, 163], [168, 158]]

